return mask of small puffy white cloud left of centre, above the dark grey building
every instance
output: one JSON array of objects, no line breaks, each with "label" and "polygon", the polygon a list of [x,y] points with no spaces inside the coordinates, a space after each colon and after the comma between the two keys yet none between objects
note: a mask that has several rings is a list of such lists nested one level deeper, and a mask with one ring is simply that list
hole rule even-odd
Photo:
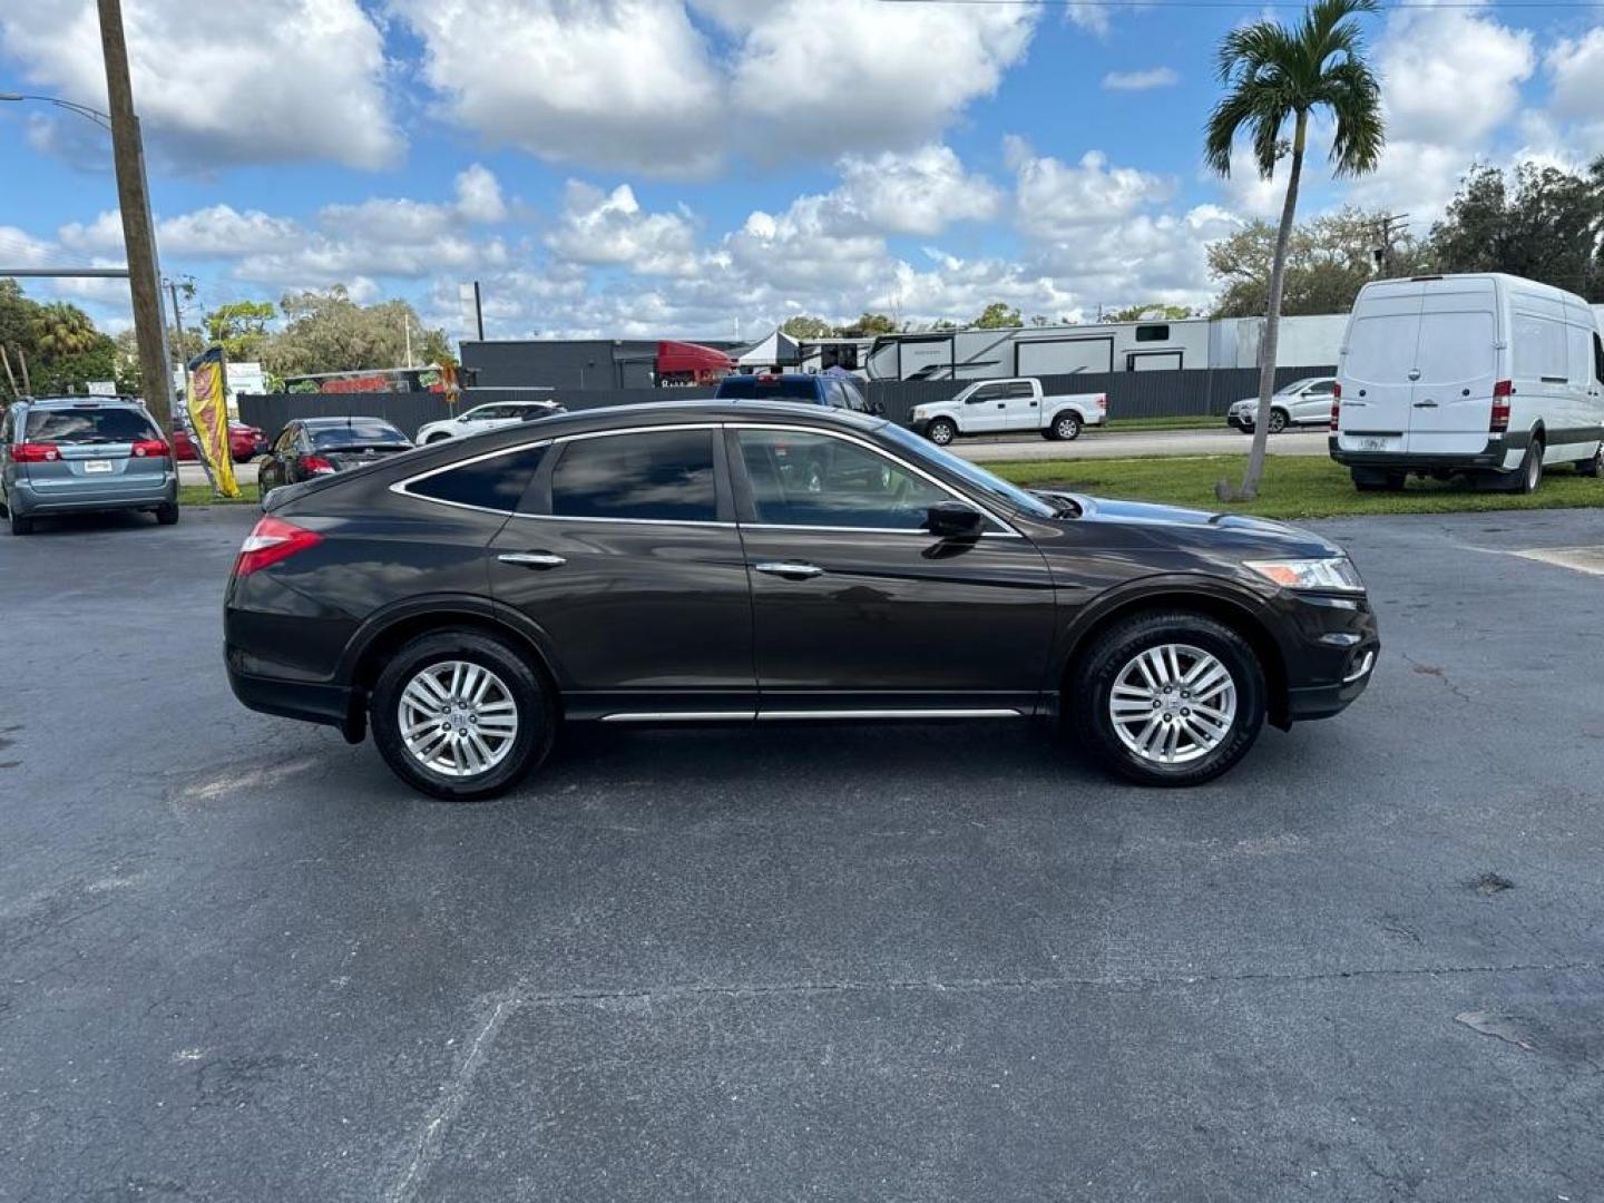
[{"label": "small puffy white cloud left of centre, above the dark grey building", "polygon": [[563,215],[545,245],[571,263],[621,263],[667,276],[696,269],[696,229],[688,213],[646,213],[629,184],[603,192],[569,180]]}]

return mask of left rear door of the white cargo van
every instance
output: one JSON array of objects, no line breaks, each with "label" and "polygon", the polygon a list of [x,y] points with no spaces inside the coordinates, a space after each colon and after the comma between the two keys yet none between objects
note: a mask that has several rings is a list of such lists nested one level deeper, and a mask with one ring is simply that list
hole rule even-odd
[{"label": "left rear door of the white cargo van", "polygon": [[1359,295],[1338,369],[1343,451],[1408,449],[1423,300],[1413,281],[1371,284]]}]

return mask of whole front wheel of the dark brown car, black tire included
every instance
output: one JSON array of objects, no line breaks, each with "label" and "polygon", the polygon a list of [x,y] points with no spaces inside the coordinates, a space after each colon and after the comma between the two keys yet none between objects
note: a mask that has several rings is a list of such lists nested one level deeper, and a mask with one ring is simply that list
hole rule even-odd
[{"label": "whole front wheel of the dark brown car, black tire included", "polygon": [[[1163,667],[1148,661],[1150,677],[1144,677],[1139,661],[1150,654],[1160,656]],[[1219,731],[1205,727],[1205,707],[1193,711],[1185,704],[1192,699],[1181,698],[1179,685],[1192,670],[1211,682],[1201,701],[1213,703],[1208,719],[1221,725]],[[1224,683],[1216,678],[1219,672]],[[1148,690],[1150,678],[1160,685],[1173,680],[1174,687],[1168,693]],[[1132,680],[1139,685],[1132,687]],[[1118,723],[1116,703],[1129,715]],[[1155,711],[1156,725],[1150,717]],[[1264,714],[1264,666],[1248,642],[1225,624],[1184,610],[1118,622],[1092,640],[1070,675],[1070,723],[1081,746],[1107,768],[1147,786],[1195,786],[1219,776],[1253,747]],[[1174,747],[1166,760],[1171,738]],[[1144,755],[1140,744],[1155,739],[1156,749]]]}]

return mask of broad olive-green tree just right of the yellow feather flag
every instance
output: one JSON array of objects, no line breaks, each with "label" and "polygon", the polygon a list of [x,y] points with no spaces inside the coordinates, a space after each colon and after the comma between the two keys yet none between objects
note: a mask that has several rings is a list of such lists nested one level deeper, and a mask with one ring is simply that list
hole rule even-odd
[{"label": "broad olive-green tree just right of the yellow feather flag", "polygon": [[322,292],[289,294],[279,302],[287,319],[261,350],[274,375],[356,372],[438,363],[449,354],[446,332],[425,327],[407,302],[358,305],[343,286]]}]

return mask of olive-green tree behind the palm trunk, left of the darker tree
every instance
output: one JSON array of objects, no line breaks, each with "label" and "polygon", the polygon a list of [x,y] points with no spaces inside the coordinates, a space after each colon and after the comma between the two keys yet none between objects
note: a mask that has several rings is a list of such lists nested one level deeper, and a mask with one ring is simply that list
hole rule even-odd
[{"label": "olive-green tree behind the palm trunk, left of the darker tree", "polygon": [[[1293,226],[1282,277],[1282,316],[1346,313],[1379,268],[1384,213],[1343,209]],[[1209,244],[1209,274],[1221,286],[1214,318],[1261,318],[1270,303],[1277,229],[1253,221]],[[1428,266],[1426,247],[1407,231],[1392,234],[1389,274],[1410,276]]]}]

